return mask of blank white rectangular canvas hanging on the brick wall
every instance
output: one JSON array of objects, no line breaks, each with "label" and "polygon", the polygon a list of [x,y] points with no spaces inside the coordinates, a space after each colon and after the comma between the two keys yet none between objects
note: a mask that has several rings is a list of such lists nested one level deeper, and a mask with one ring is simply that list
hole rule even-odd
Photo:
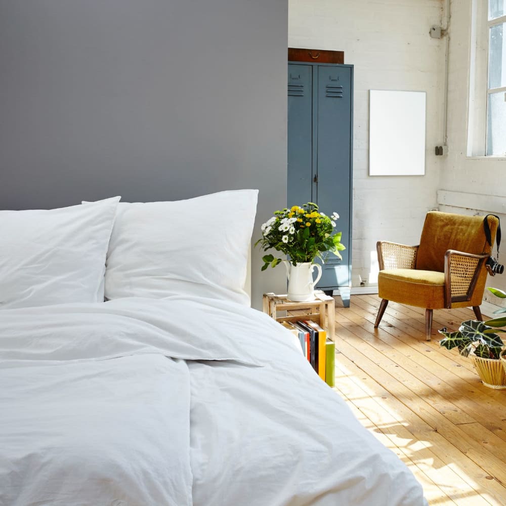
[{"label": "blank white rectangular canvas hanging on the brick wall", "polygon": [[369,91],[369,176],[425,175],[426,93]]}]

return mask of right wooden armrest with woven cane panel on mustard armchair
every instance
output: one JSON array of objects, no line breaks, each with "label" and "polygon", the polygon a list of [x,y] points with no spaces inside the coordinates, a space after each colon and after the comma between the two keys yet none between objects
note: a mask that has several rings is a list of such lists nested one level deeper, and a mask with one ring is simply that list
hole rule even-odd
[{"label": "right wooden armrest with woven cane panel on mustard armchair", "polygon": [[448,249],[445,253],[444,284],[445,307],[452,302],[469,301],[478,281],[478,276],[488,254],[474,255],[463,251]]}]

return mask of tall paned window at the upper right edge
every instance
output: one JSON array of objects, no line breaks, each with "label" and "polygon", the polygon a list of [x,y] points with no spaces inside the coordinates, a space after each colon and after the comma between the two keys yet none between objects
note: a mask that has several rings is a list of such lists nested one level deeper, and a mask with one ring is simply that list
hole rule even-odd
[{"label": "tall paned window at the upper right edge", "polygon": [[506,154],[506,0],[488,0],[486,155]]}]

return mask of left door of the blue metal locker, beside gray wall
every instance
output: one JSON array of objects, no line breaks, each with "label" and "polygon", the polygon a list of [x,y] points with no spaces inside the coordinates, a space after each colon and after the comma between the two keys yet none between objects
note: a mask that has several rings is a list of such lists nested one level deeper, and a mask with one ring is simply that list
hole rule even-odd
[{"label": "left door of the blue metal locker, beside gray wall", "polygon": [[310,202],[313,180],[313,66],[288,64],[287,205]]}]

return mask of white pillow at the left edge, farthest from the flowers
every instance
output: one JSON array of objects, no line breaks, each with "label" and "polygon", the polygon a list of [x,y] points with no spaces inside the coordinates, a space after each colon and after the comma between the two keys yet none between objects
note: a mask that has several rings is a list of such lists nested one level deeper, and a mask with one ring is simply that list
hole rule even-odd
[{"label": "white pillow at the left edge, farthest from the flowers", "polygon": [[107,247],[120,198],[59,209],[0,210],[0,309],[103,302]]}]

